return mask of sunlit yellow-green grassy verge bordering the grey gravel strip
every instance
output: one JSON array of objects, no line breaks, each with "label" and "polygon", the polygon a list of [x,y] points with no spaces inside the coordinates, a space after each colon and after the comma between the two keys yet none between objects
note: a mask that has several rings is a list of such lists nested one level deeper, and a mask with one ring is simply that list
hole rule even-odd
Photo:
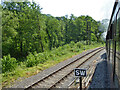
[{"label": "sunlit yellow-green grassy verge bordering the grey gravel strip", "polygon": [[81,47],[79,47],[79,44],[73,44],[71,46],[65,45],[65,46],[61,46],[60,48],[56,48],[56,49],[53,49],[52,51],[49,51],[47,53],[48,58],[46,61],[39,63],[37,65],[34,65],[32,67],[26,67],[26,62],[21,62],[21,64],[15,70],[11,72],[8,71],[5,73],[2,73],[2,87],[9,87],[16,80],[21,81],[24,78],[35,75],[42,70],[45,70],[68,58],[71,58],[77,54],[80,54],[81,52],[84,51],[84,48],[85,50],[88,50],[88,49],[93,49],[101,46],[104,46],[104,45],[96,44],[96,43],[92,45],[84,45],[84,46],[82,45]]}]

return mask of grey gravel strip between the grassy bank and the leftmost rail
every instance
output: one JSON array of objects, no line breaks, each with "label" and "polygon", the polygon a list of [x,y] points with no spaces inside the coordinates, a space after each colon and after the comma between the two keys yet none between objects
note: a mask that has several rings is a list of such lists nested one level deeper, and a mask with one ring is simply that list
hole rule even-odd
[{"label": "grey gravel strip between the grassy bank and the leftmost rail", "polygon": [[65,60],[64,62],[61,62],[51,68],[48,68],[44,71],[41,71],[40,73],[38,73],[37,75],[31,76],[29,78],[26,78],[25,80],[21,81],[21,82],[17,82],[16,84],[14,84],[11,88],[26,88],[28,86],[31,86],[32,84],[34,84],[35,82],[41,80],[42,78],[46,77],[47,75],[49,75],[50,73],[52,73],[53,71],[58,70],[60,67],[66,66],[68,63],[73,62],[74,60],[80,58],[81,56],[85,55],[88,52],[91,52],[92,50],[88,50],[85,51],[79,55],[76,55],[70,59]]}]

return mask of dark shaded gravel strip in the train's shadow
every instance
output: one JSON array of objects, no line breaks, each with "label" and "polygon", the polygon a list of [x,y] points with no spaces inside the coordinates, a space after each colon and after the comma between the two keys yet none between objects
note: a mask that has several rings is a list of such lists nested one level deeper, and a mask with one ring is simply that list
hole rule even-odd
[{"label": "dark shaded gravel strip in the train's shadow", "polygon": [[101,61],[96,66],[92,82],[88,89],[91,88],[114,88],[107,68],[106,53],[101,55]]}]

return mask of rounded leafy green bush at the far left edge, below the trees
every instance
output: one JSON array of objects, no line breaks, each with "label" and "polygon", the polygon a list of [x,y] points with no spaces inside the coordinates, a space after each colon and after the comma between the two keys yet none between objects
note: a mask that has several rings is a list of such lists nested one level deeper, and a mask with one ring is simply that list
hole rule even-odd
[{"label": "rounded leafy green bush at the far left edge, below the trees", "polygon": [[3,56],[2,59],[2,72],[5,73],[7,71],[15,70],[17,67],[17,61],[15,58],[11,58],[10,55]]}]

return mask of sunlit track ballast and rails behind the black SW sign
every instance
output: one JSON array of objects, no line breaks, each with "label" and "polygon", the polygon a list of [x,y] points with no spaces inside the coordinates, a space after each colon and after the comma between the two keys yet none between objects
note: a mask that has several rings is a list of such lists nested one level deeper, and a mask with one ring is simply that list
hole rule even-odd
[{"label": "sunlit track ballast and rails behind the black SW sign", "polygon": [[[101,55],[105,50],[100,51],[97,53],[94,57],[90,58],[87,62],[80,65],[78,68],[84,68],[87,71],[87,76],[83,77],[82,79],[82,88],[88,88],[90,85],[90,82],[92,80],[95,68],[97,63],[101,62]],[[74,77],[74,71],[70,73],[70,75],[67,75],[66,78],[61,80],[57,85],[55,85],[53,88],[79,88],[79,78]]]}]

